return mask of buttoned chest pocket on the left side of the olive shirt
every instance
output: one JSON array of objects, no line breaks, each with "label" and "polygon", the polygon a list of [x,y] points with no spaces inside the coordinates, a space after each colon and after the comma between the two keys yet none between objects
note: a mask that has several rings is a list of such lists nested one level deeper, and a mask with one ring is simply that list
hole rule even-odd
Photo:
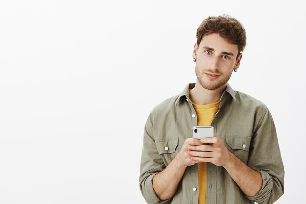
[{"label": "buttoned chest pocket on the left side of the olive shirt", "polygon": [[166,166],[172,161],[178,152],[178,137],[156,140],[158,154],[162,157]]}]

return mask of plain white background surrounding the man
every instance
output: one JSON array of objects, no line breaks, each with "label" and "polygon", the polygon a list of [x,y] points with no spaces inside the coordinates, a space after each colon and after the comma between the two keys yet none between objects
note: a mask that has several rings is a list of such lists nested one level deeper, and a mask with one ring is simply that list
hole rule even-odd
[{"label": "plain white background surrounding the man", "polygon": [[220,14],[247,32],[231,86],[276,124],[286,172],[276,203],[305,202],[298,1],[1,0],[0,204],[144,204],[144,123],[195,81],[197,27]]}]

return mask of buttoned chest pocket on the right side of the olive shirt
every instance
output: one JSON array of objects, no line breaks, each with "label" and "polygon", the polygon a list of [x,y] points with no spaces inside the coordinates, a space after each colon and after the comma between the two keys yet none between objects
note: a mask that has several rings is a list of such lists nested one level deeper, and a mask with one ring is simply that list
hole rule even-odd
[{"label": "buttoned chest pocket on the right side of the olive shirt", "polygon": [[252,137],[249,136],[237,136],[227,135],[226,143],[230,147],[228,148],[236,157],[238,157],[244,163],[247,163],[249,159],[249,151]]}]

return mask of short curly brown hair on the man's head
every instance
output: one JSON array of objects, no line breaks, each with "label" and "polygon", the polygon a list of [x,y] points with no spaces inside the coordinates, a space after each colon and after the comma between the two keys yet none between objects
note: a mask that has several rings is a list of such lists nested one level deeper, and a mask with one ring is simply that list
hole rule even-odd
[{"label": "short curly brown hair on the man's head", "polygon": [[246,34],[242,24],[228,15],[209,16],[197,28],[197,45],[202,38],[211,33],[217,33],[229,43],[238,45],[238,55],[246,45]]}]

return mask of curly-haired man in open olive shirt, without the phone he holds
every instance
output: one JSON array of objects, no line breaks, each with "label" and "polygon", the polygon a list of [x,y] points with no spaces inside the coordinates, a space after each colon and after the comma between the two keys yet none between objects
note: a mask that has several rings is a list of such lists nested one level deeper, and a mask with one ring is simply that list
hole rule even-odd
[{"label": "curly-haired man in open olive shirt, without the phone he holds", "polygon": [[[268,108],[227,83],[245,45],[243,26],[229,16],[197,29],[196,83],[157,105],[145,124],[139,183],[149,204],[270,204],[284,193]],[[215,136],[192,138],[196,125],[213,126]]]}]

